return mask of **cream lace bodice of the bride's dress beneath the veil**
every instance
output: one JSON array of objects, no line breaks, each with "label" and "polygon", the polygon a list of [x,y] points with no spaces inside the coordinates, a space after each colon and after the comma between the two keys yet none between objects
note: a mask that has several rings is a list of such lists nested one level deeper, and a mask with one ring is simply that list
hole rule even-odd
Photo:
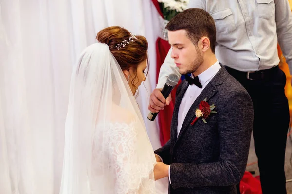
[{"label": "cream lace bodice of the bride's dress beneath the veil", "polygon": [[[154,153],[152,147],[137,141],[137,127],[137,122],[109,123],[103,127],[102,136],[100,132],[95,134],[92,178],[97,178],[98,183],[91,182],[91,190],[102,188],[104,194],[155,193]],[[108,147],[101,147],[105,145],[101,144],[102,139],[108,142]]]}]

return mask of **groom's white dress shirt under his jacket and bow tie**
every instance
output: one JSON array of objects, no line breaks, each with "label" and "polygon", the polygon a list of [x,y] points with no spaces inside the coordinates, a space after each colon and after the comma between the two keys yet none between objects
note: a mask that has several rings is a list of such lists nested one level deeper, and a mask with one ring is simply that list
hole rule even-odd
[{"label": "groom's white dress shirt under his jacket and bow tie", "polygon": [[[186,92],[183,95],[182,102],[180,104],[179,113],[178,113],[178,135],[182,129],[183,121],[185,119],[185,116],[189,109],[191,108],[192,104],[195,102],[197,97],[201,94],[203,89],[208,85],[208,83],[214,78],[214,76],[217,74],[217,72],[220,70],[221,66],[218,61],[215,62],[211,67],[209,67],[207,70],[202,72],[199,77],[199,81],[202,84],[202,88],[199,88],[196,85],[189,85]],[[160,157],[162,160],[162,158]],[[168,169],[168,178],[169,182],[171,184],[170,180],[170,166]]]}]

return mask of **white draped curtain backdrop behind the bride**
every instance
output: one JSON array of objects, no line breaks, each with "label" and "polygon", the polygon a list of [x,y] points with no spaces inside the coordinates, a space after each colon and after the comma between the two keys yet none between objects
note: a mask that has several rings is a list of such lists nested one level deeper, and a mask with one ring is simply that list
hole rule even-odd
[{"label": "white draped curtain backdrop behind the bride", "polygon": [[[146,36],[150,69],[137,98],[148,121],[159,15],[151,0],[0,0],[0,194],[58,194],[72,65],[107,26]],[[167,193],[167,178],[157,182]]]}]

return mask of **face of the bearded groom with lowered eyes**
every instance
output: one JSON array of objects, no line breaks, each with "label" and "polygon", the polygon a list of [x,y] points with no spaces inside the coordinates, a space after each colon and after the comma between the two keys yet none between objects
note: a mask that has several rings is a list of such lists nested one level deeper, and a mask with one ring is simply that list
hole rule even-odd
[{"label": "face of the bearded groom with lowered eyes", "polygon": [[204,62],[198,45],[194,45],[185,30],[168,31],[168,40],[172,46],[171,58],[181,74],[195,72]]}]

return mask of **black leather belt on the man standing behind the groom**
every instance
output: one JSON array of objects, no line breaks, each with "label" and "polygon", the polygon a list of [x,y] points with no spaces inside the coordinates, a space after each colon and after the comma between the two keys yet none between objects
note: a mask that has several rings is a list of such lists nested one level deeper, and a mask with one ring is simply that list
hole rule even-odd
[{"label": "black leather belt on the man standing behind the groom", "polygon": [[259,70],[259,71],[238,71],[228,66],[225,66],[226,70],[230,72],[230,74],[235,74],[241,77],[246,77],[248,80],[268,80],[273,77],[275,73],[279,70],[279,66],[275,66],[271,69]]}]

